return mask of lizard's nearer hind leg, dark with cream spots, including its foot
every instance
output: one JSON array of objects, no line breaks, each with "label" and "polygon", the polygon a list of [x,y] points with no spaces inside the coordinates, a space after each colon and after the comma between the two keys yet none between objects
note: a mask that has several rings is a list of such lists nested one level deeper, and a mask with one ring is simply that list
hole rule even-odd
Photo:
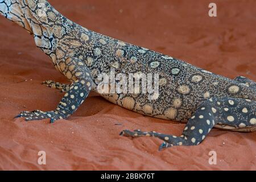
[{"label": "lizard's nearer hind leg, dark with cream spots, including its foot", "polygon": [[159,150],[172,146],[194,146],[200,144],[216,124],[232,126],[235,129],[256,126],[255,114],[255,101],[230,97],[209,98],[197,108],[179,137],[140,130],[123,130],[121,135],[126,137],[158,137],[164,140]]}]

